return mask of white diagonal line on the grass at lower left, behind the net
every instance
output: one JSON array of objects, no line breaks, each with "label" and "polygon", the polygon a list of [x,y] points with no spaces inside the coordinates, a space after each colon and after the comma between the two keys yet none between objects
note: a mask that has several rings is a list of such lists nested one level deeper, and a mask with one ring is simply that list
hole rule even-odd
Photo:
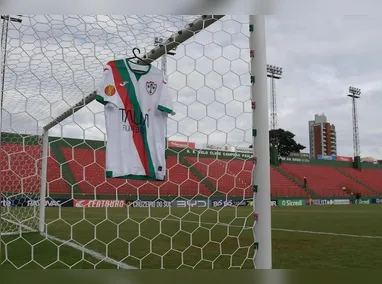
[{"label": "white diagonal line on the grass at lower left, behind the net", "polygon": [[[5,220],[6,222],[9,222],[9,223],[11,223],[11,224],[14,224],[14,225],[16,225],[16,226],[19,226],[20,228],[24,228],[24,229],[28,230],[30,233],[32,233],[32,232],[38,232],[38,231],[34,230],[33,228],[31,228],[31,227],[29,227],[29,226],[26,226],[26,225],[24,225],[24,224],[21,224],[21,223],[18,223],[18,222],[9,220],[9,219],[5,219],[5,218],[3,218],[3,220]],[[28,232],[25,232],[25,233],[28,233]],[[84,252],[84,253],[86,253],[86,254],[88,254],[88,255],[94,257],[94,258],[97,259],[97,260],[101,260],[101,261],[105,261],[105,262],[107,262],[107,263],[109,263],[109,264],[113,264],[113,265],[117,266],[117,268],[121,268],[121,269],[137,269],[137,268],[134,267],[134,266],[127,265],[126,263],[123,263],[123,262],[117,261],[117,260],[115,260],[115,259],[112,259],[112,258],[110,258],[110,257],[108,257],[108,256],[105,256],[105,255],[103,255],[103,254],[101,254],[101,253],[98,253],[98,252],[96,252],[96,251],[94,251],[94,250],[85,248],[85,247],[83,247],[83,246],[81,246],[81,245],[77,245],[77,244],[75,244],[74,242],[71,242],[70,240],[66,240],[66,241],[65,241],[65,240],[59,239],[59,238],[57,238],[57,237],[54,237],[54,236],[52,236],[52,235],[49,235],[49,234],[47,234],[47,233],[40,233],[40,234],[41,234],[43,237],[46,237],[47,239],[51,239],[51,240],[56,241],[56,242],[59,242],[59,243],[61,243],[61,244],[63,244],[63,245],[66,245],[66,246],[69,246],[69,247],[71,247],[71,248],[74,248],[74,249],[77,249],[77,250],[79,250],[79,251],[82,251],[82,252]]]}]

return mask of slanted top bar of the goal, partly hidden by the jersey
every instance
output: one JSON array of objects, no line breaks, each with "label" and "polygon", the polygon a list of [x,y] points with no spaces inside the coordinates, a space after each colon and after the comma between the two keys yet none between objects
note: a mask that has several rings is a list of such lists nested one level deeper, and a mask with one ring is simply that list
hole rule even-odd
[{"label": "slanted top bar of the goal, partly hidden by the jersey", "polygon": [[[163,45],[156,46],[151,51],[146,53],[142,58],[145,59],[145,61],[153,62],[157,60],[159,57],[161,57],[163,54],[166,53],[166,51],[170,51],[174,48],[176,48],[179,44],[185,42],[189,38],[193,37],[195,34],[199,33],[200,31],[204,30],[205,28],[209,27],[219,19],[223,18],[224,15],[203,15],[200,18],[196,19],[192,23],[188,24],[183,30],[180,30],[176,33],[174,33],[171,37],[169,37],[166,41],[163,42]],[[79,101],[77,104],[75,104],[70,109],[63,112],[61,115],[56,117],[54,120],[52,120],[50,123],[44,126],[45,130],[49,130],[52,127],[56,126],[69,116],[73,115],[83,107],[85,107],[87,104],[95,100],[96,97],[96,91],[92,92],[91,94],[87,95],[85,98],[83,98],[81,101]]]}]

